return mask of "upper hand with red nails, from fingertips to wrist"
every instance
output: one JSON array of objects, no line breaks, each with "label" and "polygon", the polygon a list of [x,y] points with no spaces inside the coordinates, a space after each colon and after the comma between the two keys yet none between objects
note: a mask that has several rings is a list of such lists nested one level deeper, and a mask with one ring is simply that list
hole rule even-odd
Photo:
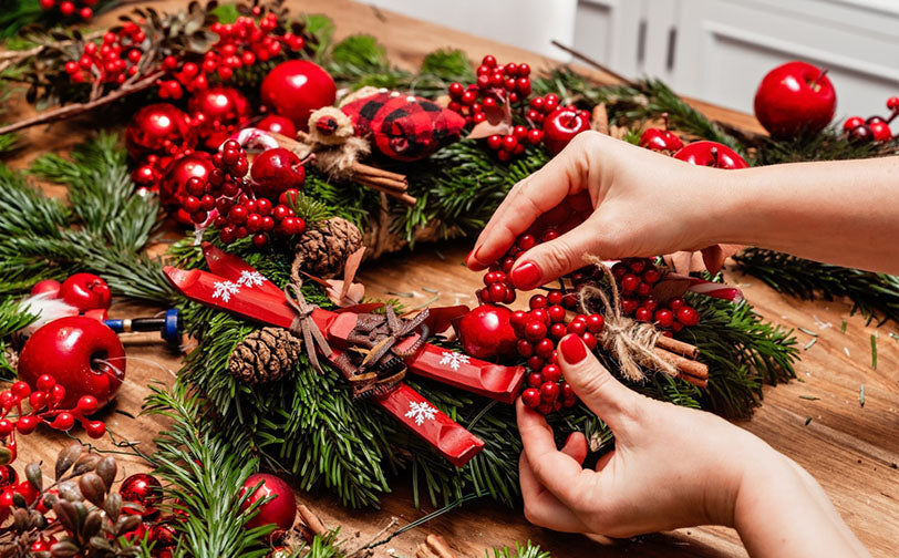
[{"label": "upper hand with red nails, from fingertips to wrist", "polygon": [[513,187],[467,265],[486,268],[536,221],[566,207],[574,209],[569,227],[577,226],[516,261],[510,278],[517,288],[529,290],[583,267],[585,254],[612,259],[706,248],[717,241],[715,208],[724,206],[714,184],[720,173],[596,132],[578,134]]}]

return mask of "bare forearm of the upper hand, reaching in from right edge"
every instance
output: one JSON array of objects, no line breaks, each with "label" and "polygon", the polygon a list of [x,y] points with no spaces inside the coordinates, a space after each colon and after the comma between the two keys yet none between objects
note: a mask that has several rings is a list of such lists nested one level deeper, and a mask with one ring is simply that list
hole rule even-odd
[{"label": "bare forearm of the upper hand, reaching in from right edge", "polygon": [[711,242],[744,244],[899,272],[899,157],[797,163],[707,175]]}]

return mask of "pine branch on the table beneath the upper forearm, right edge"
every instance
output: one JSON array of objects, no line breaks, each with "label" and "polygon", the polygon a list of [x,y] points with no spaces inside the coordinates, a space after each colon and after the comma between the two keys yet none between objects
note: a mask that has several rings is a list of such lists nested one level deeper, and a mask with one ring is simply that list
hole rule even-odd
[{"label": "pine branch on the table beneath the upper forearm, right edge", "polygon": [[777,292],[805,300],[852,302],[850,313],[871,321],[899,322],[899,277],[820,264],[786,254],[747,248],[734,257],[740,271],[756,277]]}]

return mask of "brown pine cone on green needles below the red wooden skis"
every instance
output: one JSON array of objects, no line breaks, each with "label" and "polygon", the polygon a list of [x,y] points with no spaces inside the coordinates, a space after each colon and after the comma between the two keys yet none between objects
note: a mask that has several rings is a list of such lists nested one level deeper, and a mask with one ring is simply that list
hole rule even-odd
[{"label": "brown pine cone on green needles below the red wooden skis", "polygon": [[244,383],[273,382],[289,374],[302,353],[302,341],[282,328],[256,330],[237,343],[228,370]]}]

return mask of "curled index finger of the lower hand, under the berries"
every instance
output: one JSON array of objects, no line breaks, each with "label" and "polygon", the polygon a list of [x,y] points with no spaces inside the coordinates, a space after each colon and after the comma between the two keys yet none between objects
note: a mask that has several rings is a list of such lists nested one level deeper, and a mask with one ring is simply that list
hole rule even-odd
[{"label": "curled index finger of the lower hand, under the berries", "polygon": [[516,407],[518,432],[530,471],[537,482],[562,504],[589,492],[593,486],[596,473],[585,469],[571,455],[556,448],[552,430],[542,416],[527,409],[520,399]]}]

